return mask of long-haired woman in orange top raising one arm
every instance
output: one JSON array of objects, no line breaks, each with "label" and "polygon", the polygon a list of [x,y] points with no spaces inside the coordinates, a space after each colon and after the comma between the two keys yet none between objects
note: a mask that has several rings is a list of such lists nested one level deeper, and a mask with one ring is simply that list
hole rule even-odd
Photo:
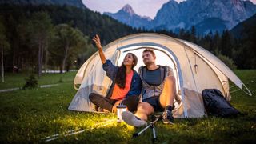
[{"label": "long-haired woman in orange top raising one arm", "polygon": [[112,85],[106,97],[91,93],[89,95],[90,101],[94,105],[113,113],[116,112],[116,106],[121,102],[127,106],[128,110],[135,111],[139,100],[138,95],[141,94],[142,90],[141,78],[134,70],[138,58],[134,54],[128,53],[122,62],[122,66],[114,66],[110,60],[106,60],[98,35],[93,38],[93,41],[98,48],[103,70],[106,71],[106,75],[112,80]]}]

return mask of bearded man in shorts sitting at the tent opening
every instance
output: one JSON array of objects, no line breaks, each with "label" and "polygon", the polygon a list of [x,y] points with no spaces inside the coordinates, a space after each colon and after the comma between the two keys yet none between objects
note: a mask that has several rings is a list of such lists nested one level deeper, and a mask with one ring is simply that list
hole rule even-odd
[{"label": "bearded man in shorts sitting at the tent opening", "polygon": [[176,95],[175,78],[169,66],[155,64],[156,56],[153,50],[146,49],[142,54],[146,66],[139,68],[142,78],[142,102],[138,104],[135,114],[130,111],[122,113],[123,120],[135,127],[146,126],[146,120],[154,111],[164,111],[162,121],[173,124],[172,108]]}]

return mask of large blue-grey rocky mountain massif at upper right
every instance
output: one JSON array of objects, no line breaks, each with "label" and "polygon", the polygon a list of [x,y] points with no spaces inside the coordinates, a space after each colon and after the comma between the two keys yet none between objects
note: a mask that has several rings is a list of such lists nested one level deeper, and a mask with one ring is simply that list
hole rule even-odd
[{"label": "large blue-grey rocky mountain massif at upper right", "polygon": [[221,31],[237,25],[256,13],[256,5],[241,0],[170,0],[158,10],[150,29],[190,29],[196,26],[200,34]]}]

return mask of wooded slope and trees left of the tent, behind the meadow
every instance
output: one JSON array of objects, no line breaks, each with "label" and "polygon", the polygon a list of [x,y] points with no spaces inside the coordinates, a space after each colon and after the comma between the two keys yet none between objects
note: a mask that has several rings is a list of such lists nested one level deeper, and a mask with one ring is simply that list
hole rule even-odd
[{"label": "wooded slope and trees left of the tent, behind the meadow", "polygon": [[[136,30],[90,10],[74,6],[0,5],[2,70],[38,72],[70,70],[82,65],[102,44]],[[2,36],[4,36],[2,38]]]}]

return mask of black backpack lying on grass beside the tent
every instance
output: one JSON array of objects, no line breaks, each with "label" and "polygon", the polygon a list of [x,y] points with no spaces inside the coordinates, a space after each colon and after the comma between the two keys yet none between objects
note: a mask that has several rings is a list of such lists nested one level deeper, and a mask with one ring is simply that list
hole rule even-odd
[{"label": "black backpack lying on grass beside the tent", "polygon": [[219,117],[230,117],[240,114],[230,102],[227,102],[217,89],[202,90],[202,98],[208,114]]}]

